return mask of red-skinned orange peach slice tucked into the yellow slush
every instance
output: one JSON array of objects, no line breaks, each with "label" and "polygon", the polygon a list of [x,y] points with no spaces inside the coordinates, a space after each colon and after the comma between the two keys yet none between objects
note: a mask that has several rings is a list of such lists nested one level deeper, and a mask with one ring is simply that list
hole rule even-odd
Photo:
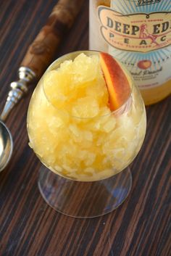
[{"label": "red-skinned orange peach slice tucked into the yellow slush", "polygon": [[109,54],[100,54],[101,70],[109,91],[109,107],[117,110],[130,96],[130,83],[120,64]]}]

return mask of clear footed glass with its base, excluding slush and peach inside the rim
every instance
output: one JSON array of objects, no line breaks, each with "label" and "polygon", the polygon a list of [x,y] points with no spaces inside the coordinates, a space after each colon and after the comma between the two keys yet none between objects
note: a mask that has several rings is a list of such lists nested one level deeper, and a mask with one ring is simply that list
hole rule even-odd
[{"label": "clear footed glass with its base, excluding slush and peach inside the rim", "polygon": [[131,92],[119,109],[78,117],[57,107],[46,79],[51,70],[79,54],[75,51],[54,61],[38,82],[28,109],[28,136],[43,163],[38,178],[43,199],[64,215],[93,218],[112,212],[128,197],[132,184],[128,165],[143,144],[146,110],[123,66]]}]

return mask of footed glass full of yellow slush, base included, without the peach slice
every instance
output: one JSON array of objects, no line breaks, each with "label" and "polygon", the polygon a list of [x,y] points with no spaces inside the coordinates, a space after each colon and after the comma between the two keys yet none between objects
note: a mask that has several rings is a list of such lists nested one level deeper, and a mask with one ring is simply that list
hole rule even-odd
[{"label": "footed glass full of yellow slush, base included, without the peach slice", "polygon": [[103,105],[108,93],[103,75],[96,78],[101,72],[98,51],[75,51],[54,61],[30,99],[29,145],[43,163],[38,187],[43,199],[64,215],[104,215],[130,192],[128,165],[143,144],[146,110],[121,67],[130,94],[117,110]]}]

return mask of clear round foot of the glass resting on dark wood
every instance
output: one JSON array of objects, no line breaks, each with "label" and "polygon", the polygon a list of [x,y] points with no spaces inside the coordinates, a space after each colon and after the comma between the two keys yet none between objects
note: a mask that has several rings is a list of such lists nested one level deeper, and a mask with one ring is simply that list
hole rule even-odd
[{"label": "clear round foot of the glass resting on dark wood", "polygon": [[132,185],[130,169],[111,178],[82,182],[62,178],[42,165],[38,188],[48,205],[75,218],[94,218],[119,207]]}]

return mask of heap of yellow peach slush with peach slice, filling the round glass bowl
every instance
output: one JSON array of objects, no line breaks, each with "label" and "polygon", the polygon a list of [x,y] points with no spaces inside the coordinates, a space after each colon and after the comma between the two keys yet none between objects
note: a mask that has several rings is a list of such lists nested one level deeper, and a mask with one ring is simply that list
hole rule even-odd
[{"label": "heap of yellow peach slush with peach slice, filling the round glass bowl", "polygon": [[138,154],[145,131],[138,88],[109,54],[85,51],[57,59],[30,100],[30,147],[66,178],[97,181],[119,173]]}]

